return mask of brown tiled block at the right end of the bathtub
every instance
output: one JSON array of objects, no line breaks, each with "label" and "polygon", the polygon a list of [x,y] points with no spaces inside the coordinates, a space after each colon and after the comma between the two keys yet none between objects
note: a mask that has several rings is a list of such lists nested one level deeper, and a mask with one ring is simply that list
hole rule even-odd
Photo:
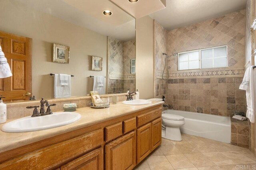
[{"label": "brown tiled block at the right end of the bathtub", "polygon": [[250,147],[249,121],[236,120],[231,117],[231,144],[239,147]]}]

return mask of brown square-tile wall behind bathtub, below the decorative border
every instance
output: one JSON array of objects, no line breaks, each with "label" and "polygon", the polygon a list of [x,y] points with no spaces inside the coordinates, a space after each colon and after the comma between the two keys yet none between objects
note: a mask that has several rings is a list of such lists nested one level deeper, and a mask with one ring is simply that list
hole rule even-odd
[{"label": "brown square-tile wall behind bathtub, below the decorative border", "polygon": [[229,116],[244,111],[242,78],[182,78],[168,80],[170,109]]}]

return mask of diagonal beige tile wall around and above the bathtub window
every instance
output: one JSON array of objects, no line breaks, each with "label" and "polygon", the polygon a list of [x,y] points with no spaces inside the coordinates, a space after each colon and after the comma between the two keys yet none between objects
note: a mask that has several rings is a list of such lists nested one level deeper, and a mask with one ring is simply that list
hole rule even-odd
[{"label": "diagonal beige tile wall around and above the bathtub window", "polygon": [[[245,10],[168,31],[168,54],[220,45],[228,45],[229,67],[244,66]],[[177,57],[168,65],[177,71]]]}]

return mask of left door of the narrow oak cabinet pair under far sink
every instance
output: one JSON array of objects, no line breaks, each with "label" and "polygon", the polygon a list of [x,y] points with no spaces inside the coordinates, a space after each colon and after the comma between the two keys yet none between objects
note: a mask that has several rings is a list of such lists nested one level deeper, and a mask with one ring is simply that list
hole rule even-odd
[{"label": "left door of the narrow oak cabinet pair under far sink", "polygon": [[151,122],[137,129],[137,164],[151,152]]}]

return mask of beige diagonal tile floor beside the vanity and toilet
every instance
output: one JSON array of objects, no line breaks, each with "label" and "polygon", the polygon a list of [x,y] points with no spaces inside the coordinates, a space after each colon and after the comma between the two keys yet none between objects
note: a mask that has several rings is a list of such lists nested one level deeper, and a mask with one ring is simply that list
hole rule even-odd
[{"label": "beige diagonal tile floor beside the vanity and toilet", "polygon": [[135,170],[255,170],[249,149],[182,134],[182,141],[162,138],[162,144]]}]

